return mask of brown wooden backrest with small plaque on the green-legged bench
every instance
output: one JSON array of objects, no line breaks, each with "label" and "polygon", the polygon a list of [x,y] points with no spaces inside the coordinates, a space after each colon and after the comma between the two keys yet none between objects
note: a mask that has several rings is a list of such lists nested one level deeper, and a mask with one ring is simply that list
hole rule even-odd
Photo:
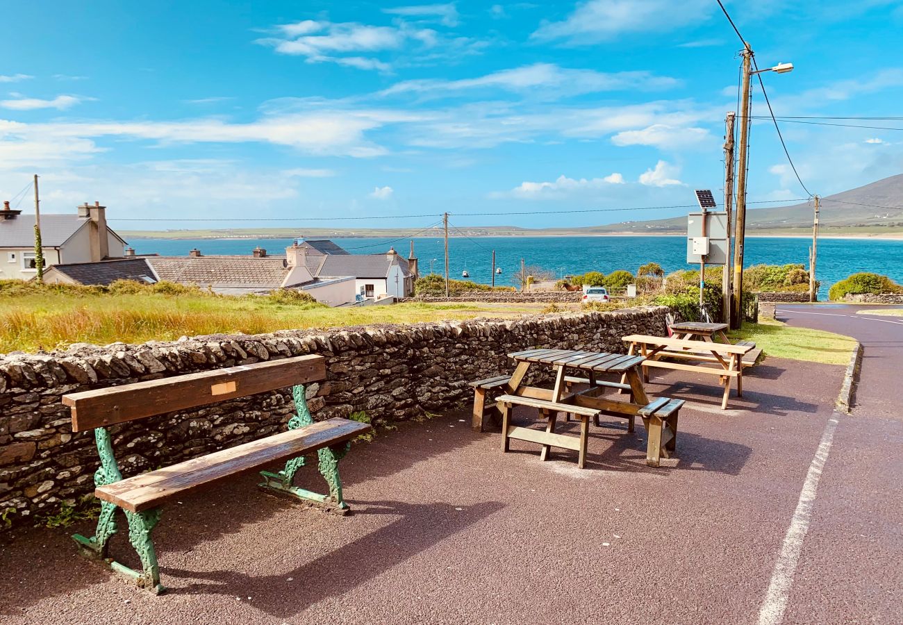
[{"label": "brown wooden backrest with small plaque on the green-legged bench", "polygon": [[324,378],[326,360],[312,354],[70,393],[62,403],[72,408],[72,431],[80,432]]}]

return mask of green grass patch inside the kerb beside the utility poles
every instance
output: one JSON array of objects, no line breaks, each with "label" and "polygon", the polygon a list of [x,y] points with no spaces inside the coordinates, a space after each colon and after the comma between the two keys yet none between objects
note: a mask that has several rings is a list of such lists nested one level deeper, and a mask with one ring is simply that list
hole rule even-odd
[{"label": "green grass patch inside the kerb beside the utility poles", "polygon": [[744,323],[743,329],[728,332],[731,340],[752,340],[762,352],[775,358],[822,362],[827,365],[850,363],[856,340],[824,330],[796,328],[782,322]]}]

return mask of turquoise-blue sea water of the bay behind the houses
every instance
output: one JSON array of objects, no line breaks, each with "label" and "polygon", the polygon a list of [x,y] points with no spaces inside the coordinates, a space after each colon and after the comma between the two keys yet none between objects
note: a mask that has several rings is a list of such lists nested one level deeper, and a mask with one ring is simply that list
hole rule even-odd
[{"label": "turquoise-blue sea water of the bay behind the houses", "polygon": [[[408,256],[409,241],[420,259],[421,274],[444,271],[442,238],[333,238],[352,254],[377,254],[395,247]],[[138,254],[185,256],[192,247],[204,255],[251,255],[255,247],[269,254],[282,255],[292,244],[290,238],[202,238],[202,239],[129,239]],[[745,266],[799,263],[808,268],[811,238],[750,237],[746,242]],[[521,259],[526,266],[539,266],[556,276],[616,269],[636,273],[637,268],[654,262],[666,272],[697,268],[686,263],[686,239],[683,237],[454,237],[449,239],[449,275],[461,279],[467,271],[470,280],[489,284],[492,280],[492,251],[496,252],[497,285],[513,285]],[[820,238],[816,277],[822,283],[821,296],[847,275],[861,271],[889,275],[903,283],[903,240],[879,238]]]}]

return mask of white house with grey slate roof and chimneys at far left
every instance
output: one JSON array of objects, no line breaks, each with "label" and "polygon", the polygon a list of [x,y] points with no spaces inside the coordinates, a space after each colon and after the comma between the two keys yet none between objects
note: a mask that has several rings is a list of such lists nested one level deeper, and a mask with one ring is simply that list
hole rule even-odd
[{"label": "white house with grey slate roof and chimneys at far left", "polygon": [[[106,207],[79,206],[77,214],[43,214],[41,248],[44,266],[98,262],[125,256],[126,241],[107,228]],[[0,210],[0,280],[31,280],[34,267],[34,215]]]}]

